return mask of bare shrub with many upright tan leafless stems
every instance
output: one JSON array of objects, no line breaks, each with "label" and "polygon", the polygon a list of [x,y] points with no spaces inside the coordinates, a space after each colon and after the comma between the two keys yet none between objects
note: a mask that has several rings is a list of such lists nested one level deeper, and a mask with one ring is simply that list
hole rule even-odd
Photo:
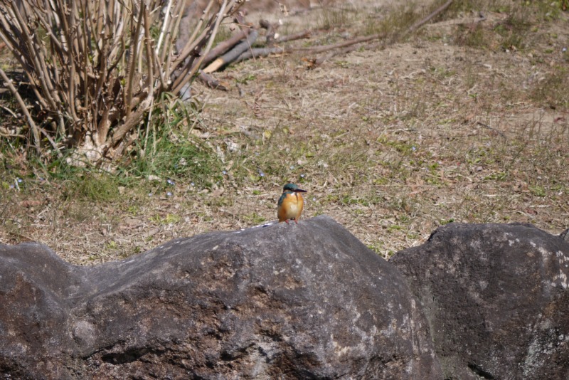
[{"label": "bare shrub with many upright tan leafless stems", "polygon": [[73,147],[90,162],[120,157],[144,133],[137,126],[154,100],[192,80],[220,22],[241,3],[208,1],[176,51],[186,0],[0,0],[0,38],[31,96],[0,75],[36,152],[61,156]]}]

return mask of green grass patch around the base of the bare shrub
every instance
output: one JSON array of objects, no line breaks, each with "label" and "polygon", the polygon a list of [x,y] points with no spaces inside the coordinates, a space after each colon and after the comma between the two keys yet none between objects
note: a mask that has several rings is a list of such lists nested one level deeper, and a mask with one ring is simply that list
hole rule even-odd
[{"label": "green grass patch around the base of the bare shrub", "polygon": [[[152,122],[141,126],[137,145],[113,167],[105,164],[73,166],[69,158],[78,161],[73,152],[63,157],[36,157],[26,153],[19,139],[0,141],[0,158],[4,164],[1,186],[14,187],[16,178],[23,179],[19,190],[28,183],[57,183],[61,198],[92,202],[113,202],[122,199],[122,191],[131,193],[164,190],[184,181],[195,189],[211,189],[222,177],[221,162],[213,147],[191,134],[198,105],[195,102],[164,102],[156,107]],[[167,105],[166,105],[167,104]],[[147,127],[147,128],[145,128]],[[145,130],[146,129],[146,130]],[[28,152],[31,149],[28,149]],[[79,158],[80,159],[80,158]],[[159,181],[148,181],[149,178]]]}]

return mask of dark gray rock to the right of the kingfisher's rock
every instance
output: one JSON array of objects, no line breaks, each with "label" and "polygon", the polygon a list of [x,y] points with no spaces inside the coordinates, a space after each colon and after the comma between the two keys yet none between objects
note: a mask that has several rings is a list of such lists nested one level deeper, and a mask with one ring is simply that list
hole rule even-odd
[{"label": "dark gray rock to the right of the kingfisher's rock", "polygon": [[390,263],[446,379],[569,379],[569,243],[529,225],[448,224]]}]

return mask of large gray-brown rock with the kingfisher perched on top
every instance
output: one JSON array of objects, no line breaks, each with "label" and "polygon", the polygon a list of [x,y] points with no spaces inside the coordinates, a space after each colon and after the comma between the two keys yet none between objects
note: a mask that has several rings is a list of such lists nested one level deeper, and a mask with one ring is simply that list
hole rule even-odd
[{"label": "large gray-brown rock with the kingfisher perched on top", "polygon": [[398,270],[325,216],[90,268],[0,246],[0,305],[12,378],[442,378]]}]

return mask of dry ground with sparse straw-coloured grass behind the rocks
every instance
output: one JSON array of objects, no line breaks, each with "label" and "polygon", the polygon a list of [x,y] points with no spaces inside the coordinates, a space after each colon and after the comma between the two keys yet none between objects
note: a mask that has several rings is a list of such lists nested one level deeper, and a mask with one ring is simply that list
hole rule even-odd
[{"label": "dry ground with sparse straw-coloured grass behind the rocks", "polygon": [[[535,21],[520,48],[504,45],[511,12],[491,4],[457,7],[402,41],[315,68],[299,52],[215,73],[230,90],[197,85],[205,108],[192,131],[222,162],[212,189],[185,179],[170,194],[120,189],[119,199],[97,203],[24,179],[21,191],[4,193],[0,242],[40,241],[72,263],[101,263],[272,221],[287,181],[308,191],[303,218],[327,214],[385,258],[450,221],[533,223],[558,234],[569,227],[569,115],[555,75],[569,65],[569,15]],[[318,31],[295,42],[318,45],[359,36],[396,7],[353,0],[248,18],[281,19],[282,33]]]}]

